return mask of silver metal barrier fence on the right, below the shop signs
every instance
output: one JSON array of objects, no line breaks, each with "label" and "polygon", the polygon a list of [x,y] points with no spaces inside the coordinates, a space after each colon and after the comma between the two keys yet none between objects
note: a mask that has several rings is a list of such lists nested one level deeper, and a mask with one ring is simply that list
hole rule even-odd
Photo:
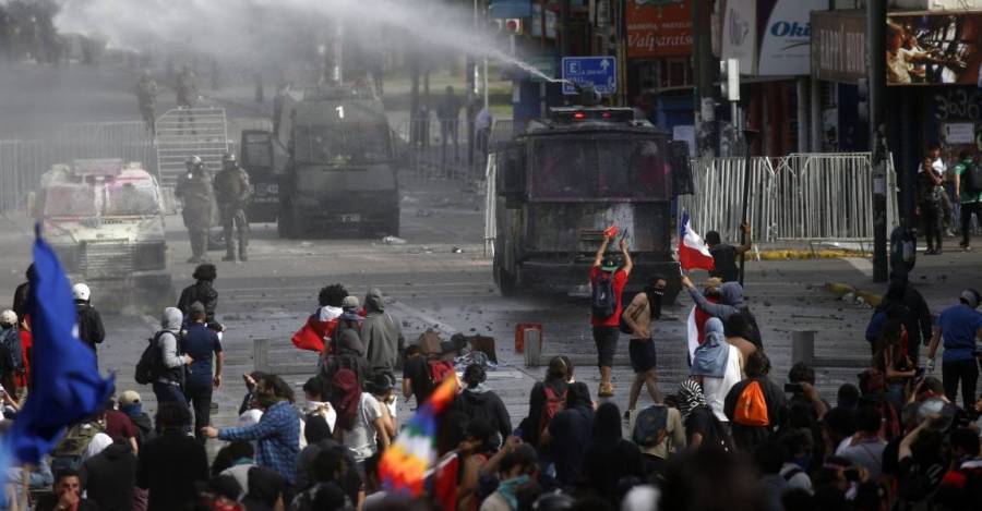
[{"label": "silver metal barrier fence on the right, below the shop signs", "polygon": [[[739,238],[744,158],[693,159],[694,195],[681,197],[693,228]],[[747,216],[758,241],[873,239],[873,168],[869,153],[751,158]],[[887,224],[897,224],[897,178],[888,160]]]}]

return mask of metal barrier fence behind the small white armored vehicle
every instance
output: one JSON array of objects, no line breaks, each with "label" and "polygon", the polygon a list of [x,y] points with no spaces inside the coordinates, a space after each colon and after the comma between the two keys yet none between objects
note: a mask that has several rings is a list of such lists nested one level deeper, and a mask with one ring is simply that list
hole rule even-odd
[{"label": "metal barrier fence behind the small white armored vehicle", "polygon": [[44,139],[0,141],[0,211],[24,207],[52,165],[82,158],[121,158],[156,171],[153,138],[140,121],[65,124]]}]

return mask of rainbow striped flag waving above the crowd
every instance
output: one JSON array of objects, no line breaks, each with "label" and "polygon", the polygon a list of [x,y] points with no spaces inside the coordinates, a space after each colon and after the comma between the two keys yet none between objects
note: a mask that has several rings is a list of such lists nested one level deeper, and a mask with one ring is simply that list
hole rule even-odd
[{"label": "rainbow striped flag waving above the crowd", "polygon": [[423,492],[436,462],[436,419],[456,393],[457,378],[445,378],[382,453],[379,476],[386,491],[409,497]]}]

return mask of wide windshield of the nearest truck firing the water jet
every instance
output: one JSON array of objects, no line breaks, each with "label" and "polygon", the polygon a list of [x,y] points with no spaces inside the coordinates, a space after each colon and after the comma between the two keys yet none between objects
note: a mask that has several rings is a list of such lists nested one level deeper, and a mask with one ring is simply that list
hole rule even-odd
[{"label": "wide windshield of the nearest truck firing the water jet", "polygon": [[658,143],[599,136],[537,141],[531,166],[536,198],[668,198],[671,181]]}]

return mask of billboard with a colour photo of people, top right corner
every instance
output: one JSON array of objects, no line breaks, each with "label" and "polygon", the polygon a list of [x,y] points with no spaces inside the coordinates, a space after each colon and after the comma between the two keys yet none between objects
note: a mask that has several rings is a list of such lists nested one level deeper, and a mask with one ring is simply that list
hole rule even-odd
[{"label": "billboard with a colour photo of people, top right corner", "polygon": [[889,14],[887,85],[978,85],[982,13]]}]

